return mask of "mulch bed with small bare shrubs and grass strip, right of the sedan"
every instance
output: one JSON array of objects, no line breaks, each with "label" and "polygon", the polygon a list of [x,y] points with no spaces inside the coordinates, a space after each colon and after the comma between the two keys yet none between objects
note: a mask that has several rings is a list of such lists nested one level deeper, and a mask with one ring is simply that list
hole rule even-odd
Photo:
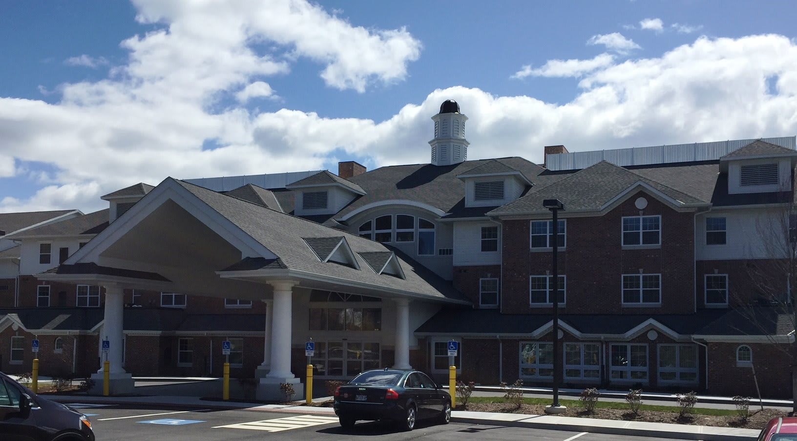
[{"label": "mulch bed with small bare shrubs and grass strip, right of the sedan", "polygon": [[[532,415],[544,415],[544,406],[538,404],[522,404],[516,408],[513,404],[506,403],[470,403],[468,407],[457,406],[456,410],[468,410],[473,412],[503,412],[503,413],[525,413]],[[742,421],[738,416],[711,416],[711,415],[687,415],[680,418],[675,412],[640,411],[637,416],[625,409],[598,408],[595,412],[588,414],[583,408],[567,408],[567,412],[560,416],[575,416],[579,418],[599,418],[603,420],[626,420],[644,421],[647,423],[675,423],[693,424],[699,426],[715,427],[739,427],[745,429],[760,430],[765,427],[769,420],[777,416],[787,416],[787,412],[775,409],[764,409],[750,411],[750,417]]]}]

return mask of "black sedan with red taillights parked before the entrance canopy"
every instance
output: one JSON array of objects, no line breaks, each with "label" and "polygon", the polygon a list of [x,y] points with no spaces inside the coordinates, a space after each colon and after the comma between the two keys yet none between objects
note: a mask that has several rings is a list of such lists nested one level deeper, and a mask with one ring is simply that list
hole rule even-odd
[{"label": "black sedan with red taillights parked before the entrance canopy", "polygon": [[387,420],[411,431],[417,420],[434,418],[448,423],[451,396],[425,373],[375,369],[336,390],[335,414],[345,428],[354,427],[358,420]]}]

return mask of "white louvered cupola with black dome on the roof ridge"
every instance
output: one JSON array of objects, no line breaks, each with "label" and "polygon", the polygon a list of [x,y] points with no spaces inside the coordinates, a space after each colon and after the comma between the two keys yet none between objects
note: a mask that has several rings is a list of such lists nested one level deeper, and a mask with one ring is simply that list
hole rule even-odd
[{"label": "white louvered cupola with black dome on the roof ridge", "polygon": [[446,100],[440,105],[440,113],[432,117],[434,121],[434,139],[432,146],[432,164],[450,166],[468,159],[469,142],[465,139],[465,121],[468,117],[459,112],[459,104],[454,100]]}]

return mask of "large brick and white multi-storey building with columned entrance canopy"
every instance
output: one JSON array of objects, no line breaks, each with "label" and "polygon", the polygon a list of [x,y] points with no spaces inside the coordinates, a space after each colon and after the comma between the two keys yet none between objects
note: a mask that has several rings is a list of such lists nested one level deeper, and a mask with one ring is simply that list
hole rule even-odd
[{"label": "large brick and white multi-storey building with columned entrance canopy", "polygon": [[[566,384],[752,395],[755,364],[765,396],[788,394],[793,326],[771,294],[791,276],[764,244],[789,230],[763,225],[793,205],[794,137],[548,146],[538,166],[468,161],[453,101],[432,119],[426,164],[341,162],[277,189],[167,178],[8,234],[20,295],[0,310],[0,369],[26,370],[37,335],[42,366],[96,372],[108,339],[126,392],[132,375],[218,376],[230,340],[234,377],[269,398],[300,388],[310,339],[329,379],[410,365],[442,378],[455,339],[465,380],[550,384],[557,240]],[[556,231],[550,197],[565,205]]]}]

